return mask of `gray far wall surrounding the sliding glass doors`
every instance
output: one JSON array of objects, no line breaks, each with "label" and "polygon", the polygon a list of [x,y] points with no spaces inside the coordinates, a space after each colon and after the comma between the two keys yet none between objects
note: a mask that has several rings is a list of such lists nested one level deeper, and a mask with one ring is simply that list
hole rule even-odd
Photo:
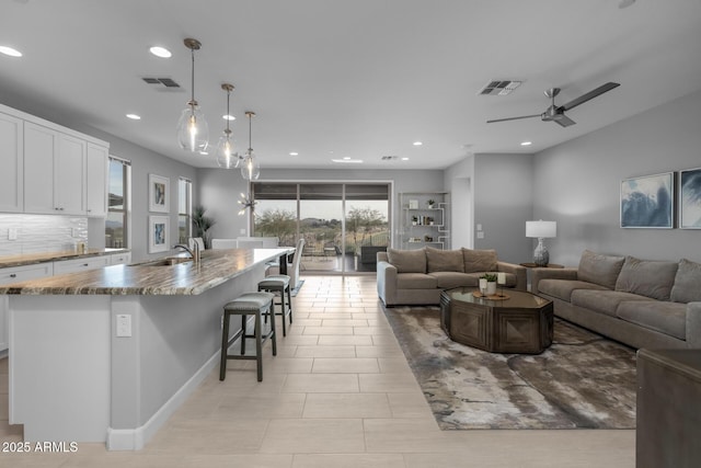
[{"label": "gray far wall surrounding the sliding glass doors", "polygon": [[[402,192],[443,192],[444,171],[409,171],[409,170],[348,170],[348,169],[266,169],[264,157],[261,160],[261,181],[382,181],[393,182],[393,198]],[[248,193],[248,183],[241,179],[238,170],[225,171],[221,169],[198,170],[199,201],[207,209],[207,215],[212,216],[217,224],[211,229],[214,238],[234,238],[250,232],[249,217],[239,216],[237,201],[241,192]],[[394,206],[395,204],[393,204]],[[397,216],[397,213],[392,213]],[[393,242],[399,246],[397,239],[398,226],[393,226]]]}]

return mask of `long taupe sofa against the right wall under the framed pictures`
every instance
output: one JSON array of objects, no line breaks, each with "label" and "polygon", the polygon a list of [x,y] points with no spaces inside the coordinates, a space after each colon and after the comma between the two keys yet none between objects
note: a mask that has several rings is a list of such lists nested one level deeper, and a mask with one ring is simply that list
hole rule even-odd
[{"label": "long taupe sofa against the right wall under the framed pictures", "polygon": [[633,347],[701,347],[701,263],[586,250],[577,269],[533,269],[554,313]]}]

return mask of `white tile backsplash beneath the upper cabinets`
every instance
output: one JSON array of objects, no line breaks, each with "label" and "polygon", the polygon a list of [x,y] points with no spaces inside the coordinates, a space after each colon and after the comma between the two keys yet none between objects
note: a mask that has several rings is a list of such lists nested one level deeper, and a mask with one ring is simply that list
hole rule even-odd
[{"label": "white tile backsplash beneath the upper cabinets", "polygon": [[85,217],[0,213],[0,256],[72,250],[77,242],[88,242]]}]

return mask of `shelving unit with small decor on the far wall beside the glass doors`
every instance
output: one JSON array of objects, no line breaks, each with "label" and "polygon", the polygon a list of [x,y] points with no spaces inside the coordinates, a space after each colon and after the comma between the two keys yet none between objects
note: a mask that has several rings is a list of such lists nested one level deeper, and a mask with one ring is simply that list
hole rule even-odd
[{"label": "shelving unit with small decor on the far wall beside the glass doors", "polygon": [[[449,203],[447,192],[400,193],[400,230],[402,249],[450,248]],[[433,202],[430,204],[429,202]]]}]

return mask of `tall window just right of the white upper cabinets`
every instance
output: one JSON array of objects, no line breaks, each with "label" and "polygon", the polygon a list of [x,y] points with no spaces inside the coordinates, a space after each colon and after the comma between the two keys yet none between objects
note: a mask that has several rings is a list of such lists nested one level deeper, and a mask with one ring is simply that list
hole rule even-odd
[{"label": "tall window just right of the white upper cabinets", "polygon": [[129,247],[131,162],[110,157],[108,206],[105,220],[105,247]]}]

